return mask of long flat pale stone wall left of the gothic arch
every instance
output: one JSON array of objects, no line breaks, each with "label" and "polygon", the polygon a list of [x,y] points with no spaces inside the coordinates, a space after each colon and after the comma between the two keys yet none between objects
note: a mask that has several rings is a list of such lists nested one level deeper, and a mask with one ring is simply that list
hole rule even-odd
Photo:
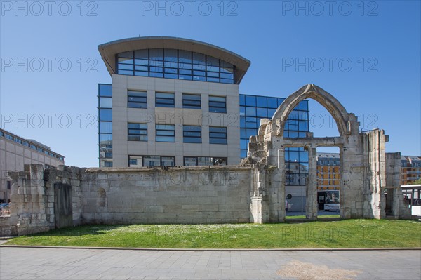
[{"label": "long flat pale stone wall left of the gothic arch", "polygon": [[86,170],[82,224],[250,222],[247,167]]}]

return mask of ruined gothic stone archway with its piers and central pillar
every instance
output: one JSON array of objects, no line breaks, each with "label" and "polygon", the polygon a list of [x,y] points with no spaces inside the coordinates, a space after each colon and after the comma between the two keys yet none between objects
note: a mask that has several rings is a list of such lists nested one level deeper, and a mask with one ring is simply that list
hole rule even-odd
[{"label": "ruined gothic stone archway with its piers and central pillar", "polygon": [[[288,115],[298,103],[312,98],[325,107],[335,119],[339,137],[285,138],[283,128]],[[316,148],[340,148],[341,218],[385,217],[385,142],[388,136],[382,130],[359,133],[359,122],[354,114],[322,88],[309,84],[290,95],[276,110],[272,119],[262,119],[258,135],[250,137],[248,159],[243,164],[258,164],[254,176],[255,192],[251,198],[252,220],[280,222],[285,220],[285,163],[286,147],[305,147],[309,152],[307,178],[307,219],[317,218]],[[265,168],[262,168],[262,165]],[[264,189],[264,192],[259,189]]]}]

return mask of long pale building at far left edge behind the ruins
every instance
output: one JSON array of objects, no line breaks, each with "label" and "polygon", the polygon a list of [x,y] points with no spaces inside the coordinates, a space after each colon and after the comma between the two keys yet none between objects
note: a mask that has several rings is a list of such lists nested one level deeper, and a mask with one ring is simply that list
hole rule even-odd
[{"label": "long pale building at far left edge behind the ruins", "polygon": [[24,164],[57,168],[65,164],[65,157],[40,142],[0,129],[0,203],[9,202],[11,197],[11,180],[8,180],[7,172],[24,171]]}]

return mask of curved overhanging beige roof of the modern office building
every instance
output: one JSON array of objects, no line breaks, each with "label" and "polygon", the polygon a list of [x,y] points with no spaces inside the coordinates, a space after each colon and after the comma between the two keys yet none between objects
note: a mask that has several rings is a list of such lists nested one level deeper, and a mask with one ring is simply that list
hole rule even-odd
[{"label": "curved overhanging beige roof of the modern office building", "polygon": [[104,60],[107,70],[110,75],[116,74],[116,54],[125,51],[142,50],[146,48],[175,48],[184,51],[194,51],[196,53],[203,53],[205,55],[219,58],[226,62],[235,65],[234,83],[240,84],[244,74],[246,74],[250,66],[250,60],[237,55],[225,48],[220,48],[212,44],[195,41],[190,39],[183,39],[178,37],[167,36],[147,36],[134,37],[128,39],[121,39],[111,41],[109,43],[98,46],[102,60]]}]

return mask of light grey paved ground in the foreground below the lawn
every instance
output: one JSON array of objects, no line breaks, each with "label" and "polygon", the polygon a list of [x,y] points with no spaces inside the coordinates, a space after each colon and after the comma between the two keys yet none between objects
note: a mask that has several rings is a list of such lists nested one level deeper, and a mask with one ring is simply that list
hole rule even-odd
[{"label": "light grey paved ground in the foreground below the lawn", "polygon": [[0,279],[421,279],[421,251],[0,247]]}]

